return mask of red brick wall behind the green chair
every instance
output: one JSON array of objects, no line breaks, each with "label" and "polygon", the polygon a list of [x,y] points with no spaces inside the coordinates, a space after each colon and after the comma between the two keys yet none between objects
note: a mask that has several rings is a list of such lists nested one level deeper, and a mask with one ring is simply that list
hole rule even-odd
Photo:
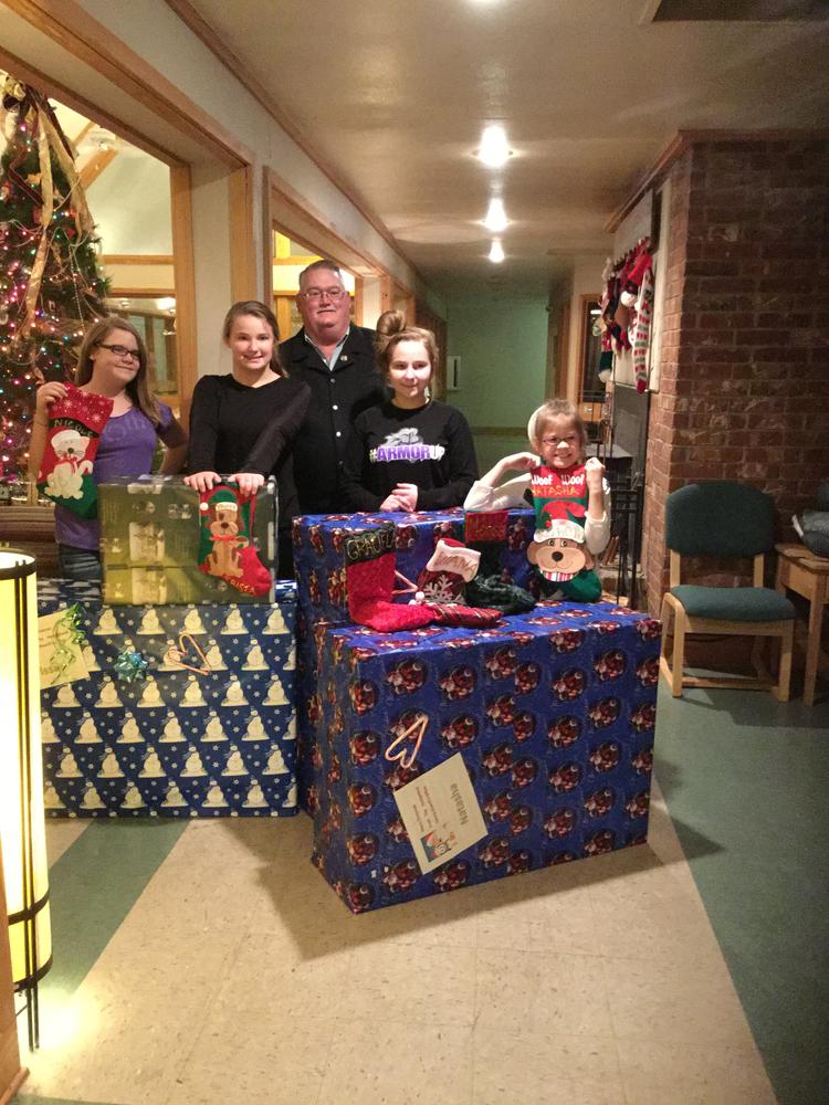
[{"label": "red brick wall behind the green chair", "polygon": [[745,480],[774,496],[791,538],[791,514],[829,476],[829,141],[700,143],[670,181],[642,557],[652,611],[670,492]]}]

